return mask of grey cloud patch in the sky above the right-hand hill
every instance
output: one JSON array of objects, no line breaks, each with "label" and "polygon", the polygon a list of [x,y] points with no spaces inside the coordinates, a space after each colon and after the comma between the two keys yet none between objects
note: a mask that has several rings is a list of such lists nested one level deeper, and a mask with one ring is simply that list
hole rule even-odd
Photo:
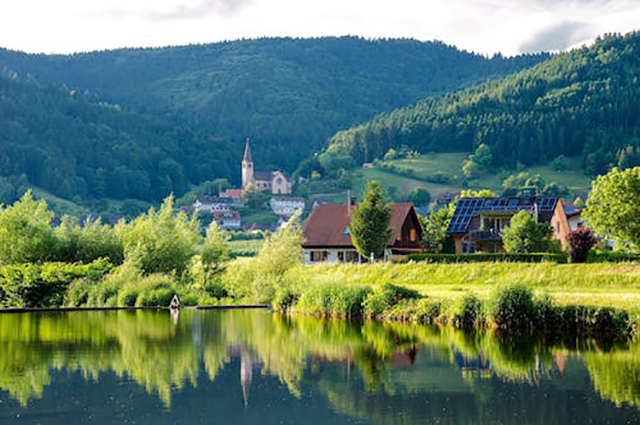
[{"label": "grey cloud patch in the sky above the right-hand hill", "polygon": [[535,33],[519,50],[524,53],[565,50],[592,38],[592,29],[586,22],[562,21]]}]

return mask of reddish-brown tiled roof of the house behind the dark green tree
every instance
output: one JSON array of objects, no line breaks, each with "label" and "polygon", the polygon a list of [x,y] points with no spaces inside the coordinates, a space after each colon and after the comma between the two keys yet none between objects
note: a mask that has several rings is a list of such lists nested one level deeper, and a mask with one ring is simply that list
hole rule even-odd
[{"label": "reddish-brown tiled roof of the house behind the dark green tree", "polygon": [[[390,204],[392,214],[389,228],[393,230],[393,236],[389,239],[389,245],[393,245],[396,233],[402,229],[407,215],[413,209],[413,204]],[[351,212],[357,205],[351,207]],[[306,239],[302,246],[319,247],[352,247],[351,236],[345,234],[349,226],[349,214],[347,204],[318,205],[304,224],[303,232]]]}]

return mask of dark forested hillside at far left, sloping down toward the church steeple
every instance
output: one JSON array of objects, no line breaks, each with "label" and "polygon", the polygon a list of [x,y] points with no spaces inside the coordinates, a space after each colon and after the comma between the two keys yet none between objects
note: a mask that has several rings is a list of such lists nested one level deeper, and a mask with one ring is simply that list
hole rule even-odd
[{"label": "dark forested hillside at far left, sloping down toward the church steeple", "polygon": [[0,203],[29,185],[76,202],[155,201],[212,174],[230,174],[232,153],[228,143],[184,125],[0,72]]}]

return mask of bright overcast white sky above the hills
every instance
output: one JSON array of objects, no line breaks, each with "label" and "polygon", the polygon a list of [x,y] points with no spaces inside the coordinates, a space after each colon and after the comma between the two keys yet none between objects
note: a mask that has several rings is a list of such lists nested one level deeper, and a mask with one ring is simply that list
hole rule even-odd
[{"label": "bright overcast white sky above the hills", "polygon": [[262,36],[442,40],[512,55],[640,29],[640,0],[3,0],[0,47],[70,53]]}]

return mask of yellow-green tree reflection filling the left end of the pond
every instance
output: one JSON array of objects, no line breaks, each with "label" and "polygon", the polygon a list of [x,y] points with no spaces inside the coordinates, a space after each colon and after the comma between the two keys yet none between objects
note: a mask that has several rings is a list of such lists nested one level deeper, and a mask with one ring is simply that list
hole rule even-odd
[{"label": "yellow-green tree reflection filling the left end of the pond", "polygon": [[[188,318],[187,318],[188,319]],[[198,362],[188,320],[149,311],[15,314],[0,321],[0,388],[21,404],[42,395],[50,369],[127,375],[167,404],[171,387],[195,385]]]}]

